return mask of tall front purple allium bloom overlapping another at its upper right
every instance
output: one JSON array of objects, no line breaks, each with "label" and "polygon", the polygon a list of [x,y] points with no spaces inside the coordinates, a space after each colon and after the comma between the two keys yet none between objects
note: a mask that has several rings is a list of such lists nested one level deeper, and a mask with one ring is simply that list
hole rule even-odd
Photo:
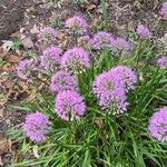
[{"label": "tall front purple allium bloom overlapping another at its upper right", "polygon": [[122,79],[114,72],[102,72],[94,81],[94,92],[99,105],[112,114],[121,114],[127,109],[125,86]]}]

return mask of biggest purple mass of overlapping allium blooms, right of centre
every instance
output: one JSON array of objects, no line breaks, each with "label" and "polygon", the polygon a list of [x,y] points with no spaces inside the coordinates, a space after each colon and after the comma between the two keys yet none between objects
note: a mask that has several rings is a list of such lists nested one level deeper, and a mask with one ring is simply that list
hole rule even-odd
[{"label": "biggest purple mass of overlapping allium blooms, right of centre", "polygon": [[126,67],[118,66],[99,75],[94,81],[94,92],[104,109],[120,114],[127,110],[126,92],[136,84],[135,72]]}]

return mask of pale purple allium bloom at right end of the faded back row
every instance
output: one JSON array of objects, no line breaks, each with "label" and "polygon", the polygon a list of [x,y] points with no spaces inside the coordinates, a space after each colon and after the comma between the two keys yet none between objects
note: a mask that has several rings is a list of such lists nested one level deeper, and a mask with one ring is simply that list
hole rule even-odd
[{"label": "pale purple allium bloom at right end of the faded back row", "polygon": [[117,38],[114,42],[114,49],[129,51],[131,49],[131,45],[124,38]]}]

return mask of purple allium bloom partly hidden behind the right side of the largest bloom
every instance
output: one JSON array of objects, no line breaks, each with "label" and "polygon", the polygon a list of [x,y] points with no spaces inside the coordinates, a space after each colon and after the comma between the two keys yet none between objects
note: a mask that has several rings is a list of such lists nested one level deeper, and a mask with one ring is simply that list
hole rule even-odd
[{"label": "purple allium bloom partly hidden behind the right side of the largest bloom", "polygon": [[119,76],[120,79],[124,80],[126,91],[129,89],[134,89],[134,85],[137,82],[137,77],[136,73],[129,67],[117,66],[111,68],[110,72],[112,72],[116,76]]}]

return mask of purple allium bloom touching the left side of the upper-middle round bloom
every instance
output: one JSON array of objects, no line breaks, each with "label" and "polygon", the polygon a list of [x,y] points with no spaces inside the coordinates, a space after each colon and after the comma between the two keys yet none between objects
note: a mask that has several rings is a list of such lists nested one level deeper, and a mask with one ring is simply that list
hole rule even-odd
[{"label": "purple allium bloom touching the left side of the upper-middle round bloom", "polygon": [[58,47],[50,47],[43,50],[40,57],[40,66],[48,71],[56,71],[60,65],[61,49]]}]

